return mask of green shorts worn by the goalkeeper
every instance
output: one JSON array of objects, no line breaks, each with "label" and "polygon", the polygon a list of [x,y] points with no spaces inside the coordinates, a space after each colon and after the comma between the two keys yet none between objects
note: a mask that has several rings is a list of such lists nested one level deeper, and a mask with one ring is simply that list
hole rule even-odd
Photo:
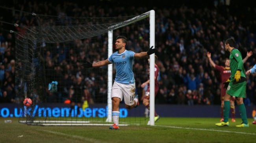
[{"label": "green shorts worn by the goalkeeper", "polygon": [[230,96],[246,98],[245,90],[246,90],[246,81],[243,81],[241,83],[230,82],[226,90],[226,93],[229,94]]}]

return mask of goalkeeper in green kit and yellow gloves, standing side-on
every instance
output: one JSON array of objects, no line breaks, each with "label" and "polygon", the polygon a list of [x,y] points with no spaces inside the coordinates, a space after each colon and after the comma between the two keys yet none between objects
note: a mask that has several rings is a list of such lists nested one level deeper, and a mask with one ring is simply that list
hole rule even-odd
[{"label": "goalkeeper in green kit and yellow gloves, standing side-on", "polygon": [[245,98],[245,90],[246,90],[246,78],[245,78],[245,70],[243,68],[243,59],[241,53],[235,49],[236,42],[234,39],[229,38],[225,42],[226,51],[230,52],[229,60],[230,60],[230,69],[231,76],[224,83],[226,85],[226,94],[224,96],[224,121],[221,123],[216,123],[216,126],[229,126],[228,117],[230,111],[230,98],[232,96],[236,96],[236,103],[239,107],[242,123],[240,125],[236,125],[236,127],[249,127],[246,109],[243,103],[243,98]]}]

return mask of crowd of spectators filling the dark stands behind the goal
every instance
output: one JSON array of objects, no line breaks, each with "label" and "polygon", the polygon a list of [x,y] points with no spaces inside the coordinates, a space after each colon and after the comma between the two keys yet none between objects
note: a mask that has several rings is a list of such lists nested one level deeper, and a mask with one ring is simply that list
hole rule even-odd
[{"label": "crowd of spectators filling the dark stands behind the goal", "polygon": [[[14,0],[15,2],[17,1]],[[52,2],[27,0],[23,4],[15,4],[13,8],[45,15],[76,17],[137,15],[154,9],[156,14],[155,45],[158,48],[158,52],[156,52],[158,61],[156,64],[160,68],[160,90],[156,97],[156,103],[220,105],[220,86],[222,83],[220,83],[218,71],[215,71],[210,66],[206,52],[211,52],[211,58],[217,65],[224,65],[224,60],[229,58],[229,54],[225,51],[223,42],[227,38],[234,37],[237,42],[237,48],[241,51],[243,58],[248,51],[253,52],[253,55],[244,64],[246,71],[250,69],[256,63],[256,9],[246,6],[239,7],[238,11],[237,5],[227,5],[222,0],[211,2],[212,4],[207,7],[168,5],[160,8],[157,6],[124,7],[120,5],[118,7],[114,5],[106,7],[97,5],[82,6],[75,2],[54,4]],[[30,26],[35,22],[27,13],[17,11],[11,14],[12,23]],[[0,102],[15,103],[17,92],[17,87],[15,86],[15,37],[4,30],[6,29],[2,28],[0,31]],[[147,33],[141,31],[138,34],[141,34],[142,38],[148,36]],[[128,40],[132,39],[132,36],[134,35],[128,35]],[[135,52],[143,50],[143,43],[139,43],[139,40],[134,40],[133,42],[135,42],[133,45],[138,46],[130,48],[134,49]],[[86,40],[82,43],[86,43]],[[87,54],[95,57],[99,56],[95,60],[106,59],[106,51],[104,55],[98,53],[97,51],[92,51]],[[50,73],[52,72],[59,73],[56,75],[59,75],[59,80],[62,80],[62,84],[65,83],[59,89],[59,94],[48,93],[48,96],[51,97],[48,98],[48,102],[63,102],[69,95],[70,86],[75,86],[74,83],[77,82],[78,72],[73,71],[74,69],[69,64],[66,64],[65,67],[61,66],[61,63],[65,61],[63,58],[67,58],[67,55],[70,56],[70,54],[70,51],[60,50],[56,61],[56,58],[54,58],[56,55],[52,51],[45,51],[46,69],[49,72],[49,74],[46,73],[46,76],[51,76]],[[89,57],[89,55],[83,54],[83,56]],[[75,63],[74,61],[77,60],[75,57],[65,62]],[[136,87],[139,94],[142,91],[140,84],[145,81],[145,79],[141,79],[138,76],[139,72],[146,72],[147,69],[145,68],[148,68],[141,64],[141,62],[135,60],[134,69],[141,69],[135,71]],[[55,68],[53,67],[54,65]],[[80,74],[82,74],[82,70]],[[247,76],[246,105],[256,105],[255,78],[255,73]],[[91,72],[91,74],[82,76],[82,81],[85,82],[85,88],[88,90],[87,98],[91,98],[91,102],[100,103],[101,101],[96,98],[99,94],[107,98],[107,85],[103,76]],[[95,85],[96,81],[97,85]],[[104,101],[107,102],[107,100]]]}]

